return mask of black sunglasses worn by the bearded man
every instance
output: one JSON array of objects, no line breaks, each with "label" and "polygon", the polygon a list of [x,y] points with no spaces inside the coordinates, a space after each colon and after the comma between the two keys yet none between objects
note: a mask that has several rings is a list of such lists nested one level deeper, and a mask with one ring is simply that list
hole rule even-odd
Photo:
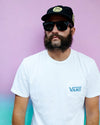
[{"label": "black sunglasses worn by the bearded man", "polygon": [[59,31],[64,31],[69,26],[72,28],[72,24],[68,21],[58,21],[58,22],[44,22],[43,27],[45,31],[52,31],[54,28],[54,25],[56,24],[56,27]]}]

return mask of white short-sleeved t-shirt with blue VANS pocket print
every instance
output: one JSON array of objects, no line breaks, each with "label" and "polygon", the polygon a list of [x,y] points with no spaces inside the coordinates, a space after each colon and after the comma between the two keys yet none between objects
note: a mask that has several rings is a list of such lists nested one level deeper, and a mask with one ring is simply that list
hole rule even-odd
[{"label": "white short-sleeved t-shirt with blue VANS pocket print", "polygon": [[11,91],[30,96],[32,125],[84,125],[84,100],[100,95],[100,72],[93,59],[75,50],[64,61],[44,50],[23,60]]}]

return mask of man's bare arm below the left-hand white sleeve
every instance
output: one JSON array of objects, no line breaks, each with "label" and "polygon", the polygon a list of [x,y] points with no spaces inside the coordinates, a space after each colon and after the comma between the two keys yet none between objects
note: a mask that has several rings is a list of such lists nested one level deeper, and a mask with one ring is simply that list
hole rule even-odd
[{"label": "man's bare arm below the left-hand white sleeve", "polygon": [[29,98],[15,95],[14,110],[12,116],[12,125],[24,125],[25,114]]}]

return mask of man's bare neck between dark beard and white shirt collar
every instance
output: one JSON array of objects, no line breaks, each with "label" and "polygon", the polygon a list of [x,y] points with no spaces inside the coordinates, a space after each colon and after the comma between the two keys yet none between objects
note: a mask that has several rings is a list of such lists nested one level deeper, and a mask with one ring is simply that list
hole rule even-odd
[{"label": "man's bare neck between dark beard and white shirt collar", "polygon": [[70,52],[71,52],[70,48],[68,48],[64,52],[62,52],[61,50],[53,50],[53,51],[48,50],[49,56],[57,61],[64,61],[65,59],[67,59],[70,55]]}]

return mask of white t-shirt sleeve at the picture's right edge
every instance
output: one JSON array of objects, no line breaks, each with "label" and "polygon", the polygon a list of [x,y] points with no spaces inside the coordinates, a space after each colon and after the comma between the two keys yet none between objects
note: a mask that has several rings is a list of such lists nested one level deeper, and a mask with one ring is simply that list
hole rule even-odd
[{"label": "white t-shirt sleeve at the picture's right edge", "polygon": [[95,61],[90,64],[90,70],[87,75],[86,97],[92,98],[100,95],[100,72]]}]

